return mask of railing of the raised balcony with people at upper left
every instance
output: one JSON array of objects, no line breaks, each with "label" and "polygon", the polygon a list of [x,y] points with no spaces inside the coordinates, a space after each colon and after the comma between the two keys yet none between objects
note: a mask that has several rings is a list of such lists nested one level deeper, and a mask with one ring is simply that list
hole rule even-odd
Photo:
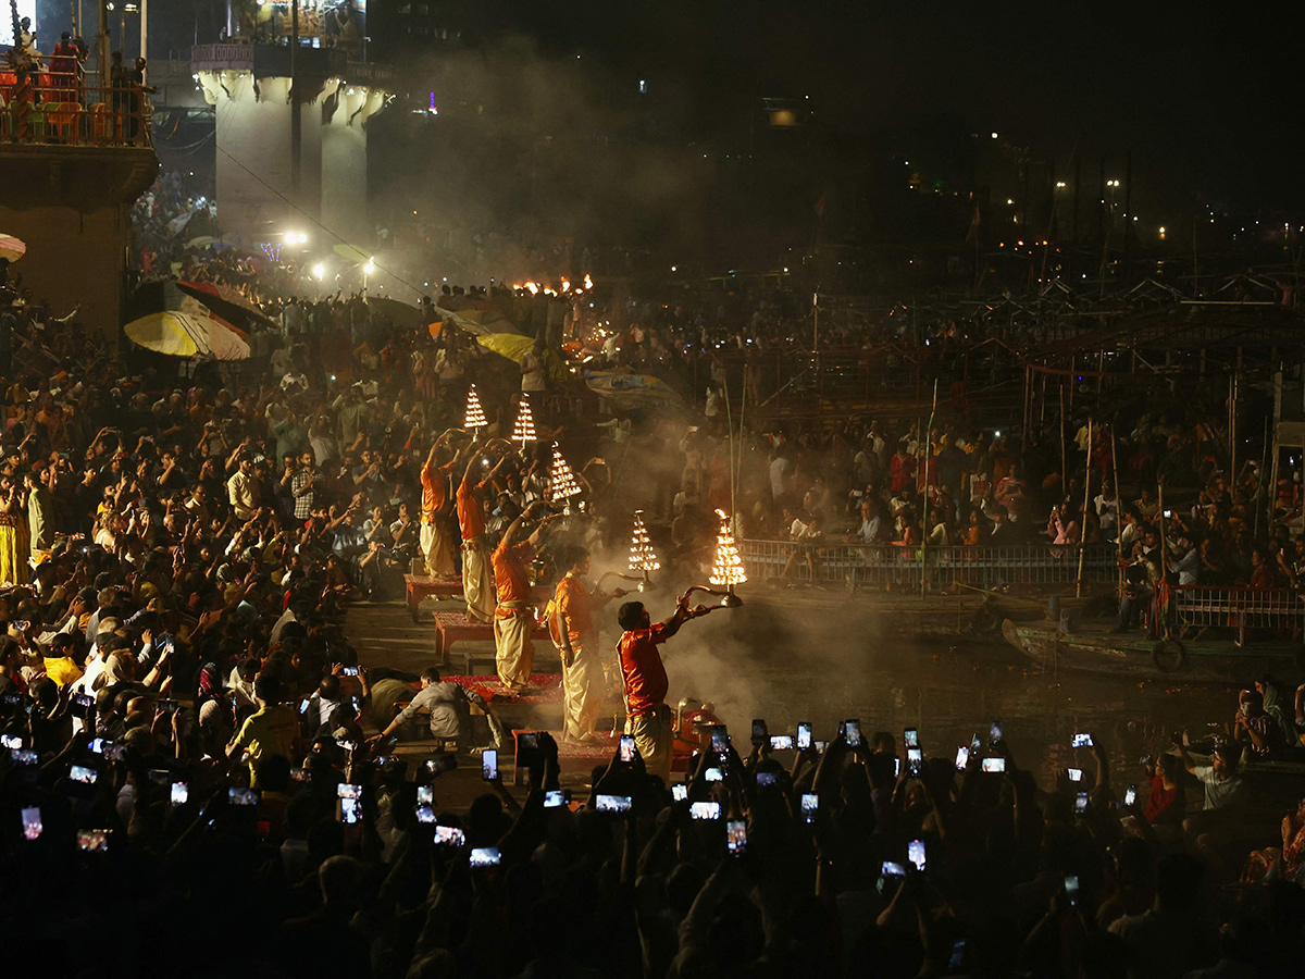
[{"label": "railing of the raised balcony with people at upper left", "polygon": [[0,72],[0,142],[149,146],[145,93],[78,84],[77,76]]}]

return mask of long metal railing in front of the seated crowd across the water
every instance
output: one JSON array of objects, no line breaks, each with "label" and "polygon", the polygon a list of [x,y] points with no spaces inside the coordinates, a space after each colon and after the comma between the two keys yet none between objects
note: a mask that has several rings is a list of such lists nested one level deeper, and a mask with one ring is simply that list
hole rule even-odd
[{"label": "long metal railing in front of the seated crowd across the water", "polygon": [[923,576],[933,587],[1069,585],[1078,581],[1081,550],[1084,551],[1084,582],[1116,580],[1118,552],[1113,544],[1087,544],[1086,548],[1069,544],[951,544],[928,547],[921,553],[915,544],[850,544],[837,538],[814,543],[739,542],[739,553],[753,581],[775,577],[788,568],[790,576],[799,581],[867,587],[919,587]]}]

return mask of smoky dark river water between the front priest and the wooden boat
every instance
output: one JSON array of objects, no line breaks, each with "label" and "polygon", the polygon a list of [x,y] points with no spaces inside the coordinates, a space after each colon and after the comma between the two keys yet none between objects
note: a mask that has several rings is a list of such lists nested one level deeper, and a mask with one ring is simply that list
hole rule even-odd
[{"label": "smoky dark river water between the front priest and the wooden boat", "polygon": [[1001,721],[1017,764],[1039,771],[1044,787],[1054,768],[1092,768],[1087,752],[1069,747],[1077,732],[1105,744],[1116,785],[1126,786],[1143,778],[1139,757],[1163,751],[1173,731],[1203,735],[1236,710],[1229,688],[1043,675],[1004,645],[903,638],[885,634],[881,623],[853,604],[761,603],[690,623],[663,646],[669,698],[713,700],[744,753],[754,717],[766,718],[771,734],[810,721],[817,740],[856,717],[867,736],[893,732],[899,753],[902,730],[917,727],[925,756],[947,758],[975,734],[987,741],[990,722]]}]

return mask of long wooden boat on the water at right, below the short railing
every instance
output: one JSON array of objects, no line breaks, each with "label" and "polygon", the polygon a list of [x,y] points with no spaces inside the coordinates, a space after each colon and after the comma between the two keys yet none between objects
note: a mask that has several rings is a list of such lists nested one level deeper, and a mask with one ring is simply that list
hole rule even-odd
[{"label": "long wooden boat on the water at right, below the short railing", "polygon": [[1232,640],[1148,640],[1142,632],[1112,633],[1107,624],[1065,632],[1058,623],[1006,619],[1002,636],[1045,672],[1074,670],[1138,680],[1248,685],[1257,674],[1295,676],[1300,642],[1288,640],[1238,646]]}]

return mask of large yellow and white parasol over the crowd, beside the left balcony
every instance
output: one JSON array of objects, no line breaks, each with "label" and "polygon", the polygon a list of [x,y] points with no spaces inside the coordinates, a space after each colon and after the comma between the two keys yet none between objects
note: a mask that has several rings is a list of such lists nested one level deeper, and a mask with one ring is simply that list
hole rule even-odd
[{"label": "large yellow and white parasol over the crowd, beside the left balcony", "polygon": [[172,282],[151,282],[132,296],[128,339],[166,356],[244,360],[249,335]]}]

